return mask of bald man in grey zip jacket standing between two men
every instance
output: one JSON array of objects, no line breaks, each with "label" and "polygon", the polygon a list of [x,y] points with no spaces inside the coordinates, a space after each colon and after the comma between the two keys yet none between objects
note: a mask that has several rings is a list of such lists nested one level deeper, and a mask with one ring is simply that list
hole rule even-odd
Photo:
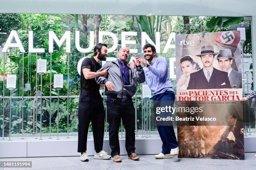
[{"label": "bald man in grey zip jacket standing between two men", "polygon": [[123,47],[118,52],[118,60],[106,63],[99,71],[105,68],[108,76],[95,78],[97,84],[105,84],[107,94],[107,118],[109,122],[109,144],[114,162],[121,162],[118,132],[122,119],[125,127],[125,149],[128,158],[138,160],[135,154],[135,110],[132,96],[136,93],[137,83],[145,81],[144,71],[139,61],[133,61],[136,69],[132,69],[127,60],[129,48]]}]

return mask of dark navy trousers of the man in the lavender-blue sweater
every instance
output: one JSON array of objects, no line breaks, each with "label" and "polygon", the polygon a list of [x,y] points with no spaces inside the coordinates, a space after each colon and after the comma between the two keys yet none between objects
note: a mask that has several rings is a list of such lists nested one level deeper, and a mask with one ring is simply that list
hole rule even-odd
[{"label": "dark navy trousers of the man in the lavender-blue sweater", "polygon": [[[173,91],[164,91],[164,93],[154,95],[153,101],[154,101],[155,113],[156,113],[156,107],[166,107],[167,103],[168,103],[168,107],[169,106],[173,107],[174,100],[175,100],[175,94]],[[174,128],[172,124],[169,126],[158,125],[157,130],[163,142],[162,153],[169,154],[171,152],[171,149],[176,148],[178,146]]]}]

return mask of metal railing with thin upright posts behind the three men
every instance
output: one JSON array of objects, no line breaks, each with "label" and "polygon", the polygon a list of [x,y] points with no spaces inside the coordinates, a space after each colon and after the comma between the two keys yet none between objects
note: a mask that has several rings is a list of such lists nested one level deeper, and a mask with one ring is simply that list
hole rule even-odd
[{"label": "metal railing with thin upright posts behind the three men", "polygon": [[[36,106],[33,104],[33,111],[36,110],[36,112],[33,112],[33,124],[32,124],[32,128],[33,128],[33,132],[32,134],[34,134],[34,136],[36,137],[35,139],[38,139],[37,138],[37,135],[38,135],[38,128],[40,130],[39,134],[40,134],[40,138],[39,140],[42,140],[42,121],[40,119],[40,121],[38,121],[37,119],[37,107],[42,107],[41,104],[42,102],[40,102],[40,105],[38,106],[37,104],[37,100],[39,99],[50,99],[50,112],[49,112],[49,138],[51,139],[52,138],[52,132],[51,132],[51,102],[52,100],[51,99],[58,99],[58,96],[0,96],[0,99],[3,100],[3,102],[6,103],[5,99],[9,99],[8,102],[13,102],[14,99],[22,99],[22,129],[21,129],[21,132],[22,132],[22,138],[21,139],[25,139],[24,138],[24,126],[23,126],[23,121],[24,121],[24,114],[23,114],[23,107],[24,107],[24,101],[26,101],[26,99],[34,99],[36,101]],[[59,96],[59,99],[72,99],[72,98],[79,98],[79,96],[77,95],[74,95],[74,96]],[[57,104],[59,105],[59,99],[58,99],[58,102]],[[108,137],[108,121],[107,121],[107,104],[105,102],[105,99],[106,99],[106,96],[102,96],[102,99],[103,99],[103,104],[104,104],[104,107],[105,107],[105,111],[106,111],[106,117],[105,117],[105,131],[104,131],[104,137]],[[141,137],[151,137],[151,104],[150,104],[150,100],[145,100],[142,98],[141,95],[134,95],[132,97],[132,99],[134,100],[134,107],[135,107],[135,132],[136,132],[136,137],[138,137],[138,123],[141,122],[141,133],[139,134]],[[141,120],[140,121],[138,119],[138,99],[141,99],[141,108],[142,108],[142,113],[141,113]],[[5,103],[3,103],[3,120],[5,119],[4,117],[4,111],[5,111]],[[35,108],[34,108],[35,107]],[[67,110],[69,109],[69,106],[67,106]],[[67,111],[68,112],[68,111]],[[11,107],[10,107],[10,114],[11,114]],[[41,114],[41,113],[40,113]],[[69,115],[69,112],[68,112],[68,115]],[[59,116],[59,112],[58,112],[58,116]],[[35,119],[35,120],[34,120]],[[56,117],[56,119],[58,119]],[[69,117],[67,118],[67,138],[69,137]],[[11,124],[12,124],[12,118],[10,117],[9,118],[9,128],[7,126],[4,126],[6,122],[3,121],[3,123],[1,125],[3,125],[3,127],[5,127],[6,130],[9,131],[9,140],[11,140]],[[58,119],[59,120],[59,119]],[[38,127],[38,122],[40,122],[40,126]],[[57,121],[59,122],[59,121]],[[59,123],[57,123],[57,128],[59,128]],[[123,123],[121,122],[121,127],[120,127],[120,134],[121,134],[121,138],[124,138],[125,137],[125,128],[123,126]],[[44,135],[45,136],[45,135]],[[57,133],[57,139],[59,139],[59,135]],[[89,127],[89,131],[88,131],[88,138],[90,138],[90,127]],[[2,140],[4,140],[5,137],[4,137],[4,128],[3,128],[3,134],[2,134]]]}]

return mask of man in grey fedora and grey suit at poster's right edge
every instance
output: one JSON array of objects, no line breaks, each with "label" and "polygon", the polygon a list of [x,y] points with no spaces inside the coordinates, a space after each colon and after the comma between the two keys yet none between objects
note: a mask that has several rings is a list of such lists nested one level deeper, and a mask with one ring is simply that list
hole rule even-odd
[{"label": "man in grey fedora and grey suit at poster's right edge", "polygon": [[241,72],[235,71],[233,68],[231,68],[231,65],[233,63],[231,50],[228,48],[220,50],[216,58],[220,65],[220,69],[222,71],[228,72],[228,79],[230,81],[231,87],[233,89],[242,88]]}]

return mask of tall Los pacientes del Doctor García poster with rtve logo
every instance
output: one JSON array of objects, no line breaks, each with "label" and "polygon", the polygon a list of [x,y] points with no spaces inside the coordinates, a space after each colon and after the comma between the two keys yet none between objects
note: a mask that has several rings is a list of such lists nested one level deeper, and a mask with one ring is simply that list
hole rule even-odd
[{"label": "tall Los pacientes del Doctor Garc\u00eda poster with rtve logo", "polygon": [[175,39],[179,157],[244,160],[240,32]]}]

